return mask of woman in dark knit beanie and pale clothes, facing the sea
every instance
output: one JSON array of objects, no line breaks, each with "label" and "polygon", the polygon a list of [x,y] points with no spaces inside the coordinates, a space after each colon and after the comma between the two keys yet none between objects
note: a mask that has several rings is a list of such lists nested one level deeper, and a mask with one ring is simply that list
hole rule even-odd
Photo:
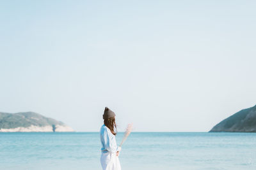
[{"label": "woman in dark knit beanie and pale clothes, facing the sea", "polygon": [[109,108],[104,110],[104,124],[100,128],[100,141],[102,144],[100,163],[103,170],[121,170],[118,159],[121,147],[116,145],[115,113]]}]

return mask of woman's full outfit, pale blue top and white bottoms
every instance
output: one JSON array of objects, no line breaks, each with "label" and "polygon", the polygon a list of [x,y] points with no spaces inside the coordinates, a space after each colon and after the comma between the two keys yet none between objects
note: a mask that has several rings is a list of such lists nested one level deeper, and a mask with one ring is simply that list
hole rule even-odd
[{"label": "woman's full outfit, pale blue top and white bottoms", "polygon": [[106,125],[100,128],[100,141],[102,144],[100,163],[103,170],[121,170],[116,152],[121,148],[116,145],[116,137]]}]

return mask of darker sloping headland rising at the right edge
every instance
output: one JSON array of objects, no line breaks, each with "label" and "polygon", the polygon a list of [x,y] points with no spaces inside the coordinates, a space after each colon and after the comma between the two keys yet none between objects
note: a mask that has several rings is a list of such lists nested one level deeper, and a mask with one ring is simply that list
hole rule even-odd
[{"label": "darker sloping headland rising at the right edge", "polygon": [[209,132],[256,132],[256,105],[222,120]]}]

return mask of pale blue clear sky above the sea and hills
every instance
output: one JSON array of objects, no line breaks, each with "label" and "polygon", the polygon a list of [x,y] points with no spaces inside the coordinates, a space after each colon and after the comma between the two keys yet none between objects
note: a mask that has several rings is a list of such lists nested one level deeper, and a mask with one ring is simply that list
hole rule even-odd
[{"label": "pale blue clear sky above the sea and hills", "polygon": [[0,111],[207,132],[256,100],[255,1],[0,1]]}]

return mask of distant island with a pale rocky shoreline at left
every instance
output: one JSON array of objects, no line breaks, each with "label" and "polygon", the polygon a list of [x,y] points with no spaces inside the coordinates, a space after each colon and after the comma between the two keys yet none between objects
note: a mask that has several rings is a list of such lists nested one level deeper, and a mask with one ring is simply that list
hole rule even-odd
[{"label": "distant island with a pale rocky shoreline at left", "polygon": [[0,132],[74,132],[63,122],[35,112],[0,112]]}]

